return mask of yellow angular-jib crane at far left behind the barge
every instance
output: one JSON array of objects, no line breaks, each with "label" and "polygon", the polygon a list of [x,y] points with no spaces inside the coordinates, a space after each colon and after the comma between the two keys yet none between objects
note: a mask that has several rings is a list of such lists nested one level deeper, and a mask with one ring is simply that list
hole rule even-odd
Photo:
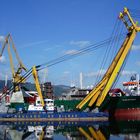
[{"label": "yellow angular-jib crane at far left behind the barge", "polygon": [[[18,66],[18,68],[17,68],[16,71],[14,69],[13,57],[12,57],[12,53],[11,53],[11,50],[10,50],[10,46],[11,45],[12,45],[12,48],[13,48],[14,53],[16,55],[16,59],[18,61],[18,64],[19,64],[19,66]],[[6,38],[5,38],[5,41],[4,41],[3,46],[2,46],[2,50],[0,52],[0,57],[3,55],[4,49],[6,48],[6,46],[8,48],[8,55],[9,55],[10,67],[11,67],[11,71],[12,71],[13,84],[16,85],[14,87],[15,88],[14,90],[15,91],[18,91],[19,88],[18,88],[18,84],[17,83],[19,83],[19,81],[22,81],[22,83],[25,82],[25,79],[23,80],[22,79],[23,77],[21,76],[22,70],[24,70],[25,72],[27,72],[27,69],[23,65],[22,61],[20,60],[20,58],[18,56],[17,50],[16,50],[15,45],[14,45],[14,42],[12,40],[12,36],[10,34],[8,34],[6,36]]]}]

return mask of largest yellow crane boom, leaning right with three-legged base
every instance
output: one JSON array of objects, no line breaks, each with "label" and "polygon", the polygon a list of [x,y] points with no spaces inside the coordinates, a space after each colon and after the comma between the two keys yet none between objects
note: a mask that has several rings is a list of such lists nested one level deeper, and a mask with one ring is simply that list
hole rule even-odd
[{"label": "largest yellow crane boom, leaning right with three-legged base", "polygon": [[119,71],[127,57],[128,52],[130,51],[137,32],[140,32],[140,27],[137,25],[137,22],[132,19],[127,8],[124,8],[123,12],[120,13],[119,19],[122,20],[126,26],[128,34],[101,81],[76,106],[76,108],[79,110],[82,109],[82,107],[87,103],[89,107],[92,107],[93,105],[95,105],[97,108],[101,107],[110,88],[117,78],[117,75],[119,74]]}]

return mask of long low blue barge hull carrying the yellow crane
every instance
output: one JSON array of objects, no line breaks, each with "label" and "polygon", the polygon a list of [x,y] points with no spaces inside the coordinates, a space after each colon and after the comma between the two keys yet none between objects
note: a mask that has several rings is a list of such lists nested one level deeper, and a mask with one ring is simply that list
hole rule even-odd
[{"label": "long low blue barge hull carrying the yellow crane", "polygon": [[97,122],[108,121],[108,113],[92,112],[28,112],[28,113],[0,113],[0,121],[25,122]]}]

